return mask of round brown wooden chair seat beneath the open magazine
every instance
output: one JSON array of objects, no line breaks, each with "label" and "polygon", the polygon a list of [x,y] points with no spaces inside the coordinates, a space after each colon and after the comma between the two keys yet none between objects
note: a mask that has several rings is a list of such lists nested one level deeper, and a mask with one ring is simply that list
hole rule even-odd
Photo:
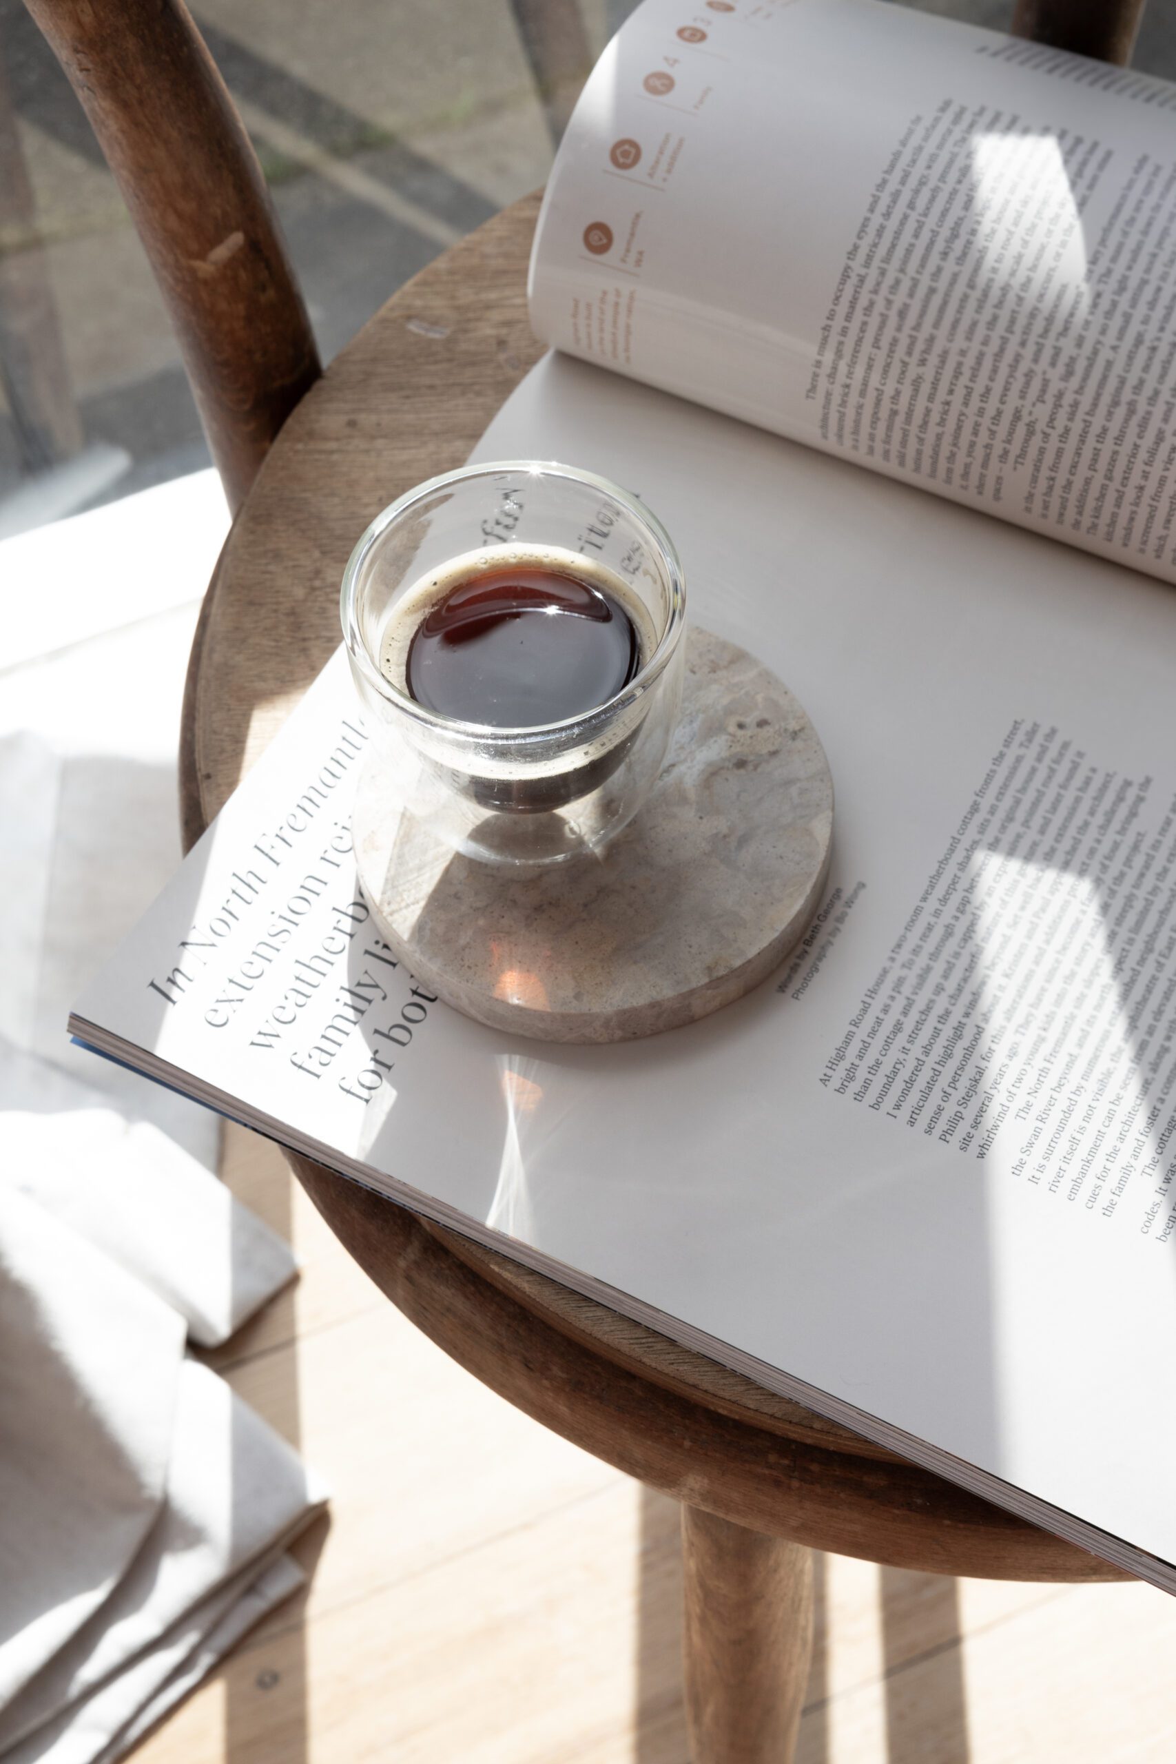
[{"label": "round brown wooden chair seat beneath the open magazine", "polygon": [[[339,582],[356,536],[413,483],[460,466],[541,353],[525,310],[536,213],[538,196],[517,203],[402,288],[273,445],[192,647],[180,753],[187,843],[339,644]],[[453,1358],[652,1487],[894,1566],[1127,1579],[555,1281],[291,1162],[367,1274]]]}]

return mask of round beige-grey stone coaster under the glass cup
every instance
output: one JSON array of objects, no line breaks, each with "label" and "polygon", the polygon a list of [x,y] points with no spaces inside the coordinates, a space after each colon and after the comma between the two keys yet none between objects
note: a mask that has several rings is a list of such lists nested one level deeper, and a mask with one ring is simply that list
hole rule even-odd
[{"label": "round beige-grey stone coaster under the glass cup", "polygon": [[547,870],[367,820],[360,880],[416,979],[492,1028],[628,1041],[741,998],[800,938],[832,845],[832,778],[788,688],[691,630],[682,714],[636,818]]}]

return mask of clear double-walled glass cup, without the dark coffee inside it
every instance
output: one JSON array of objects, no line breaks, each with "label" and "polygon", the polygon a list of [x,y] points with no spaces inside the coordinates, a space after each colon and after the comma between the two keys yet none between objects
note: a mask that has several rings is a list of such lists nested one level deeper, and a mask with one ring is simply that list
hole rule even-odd
[{"label": "clear double-walled glass cup, without the dark coffee inside it", "polygon": [[[638,640],[633,679],[603,704],[534,727],[494,729],[425,707],[407,686],[414,630],[448,584],[513,566],[562,570],[619,602]],[[661,771],[682,688],[682,566],[661,522],[605,478],[508,460],[418,485],[351,554],[342,626],[372,730],[356,850],[376,820],[411,815],[488,863],[601,852]]]}]

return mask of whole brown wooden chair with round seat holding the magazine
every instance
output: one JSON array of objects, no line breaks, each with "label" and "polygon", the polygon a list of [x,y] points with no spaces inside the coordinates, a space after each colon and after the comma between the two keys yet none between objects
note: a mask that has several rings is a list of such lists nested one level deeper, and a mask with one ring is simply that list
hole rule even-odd
[{"label": "whole brown wooden chair with round seat holding the magazine", "polygon": [[[190,843],[339,642],[356,534],[464,462],[538,356],[538,198],[402,288],[321,376],[259,168],[182,0],[26,0],[155,266],[234,524],[189,667]],[[1141,0],[1021,0],[1019,25],[1125,62]],[[561,1284],[330,1171],[298,1178],[383,1291],[547,1427],[682,1503],[696,1764],[785,1760],[811,1644],[811,1551],[1019,1581],[1127,1575]]]}]

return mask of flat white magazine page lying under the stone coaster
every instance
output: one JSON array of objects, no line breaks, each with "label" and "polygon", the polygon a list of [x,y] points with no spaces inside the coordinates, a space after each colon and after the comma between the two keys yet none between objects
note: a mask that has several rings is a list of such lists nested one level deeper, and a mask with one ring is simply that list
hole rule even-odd
[{"label": "flat white magazine page lying under the stone coaster", "polygon": [[76,1034],[1176,1589],[1176,596],[566,356],[524,455],[640,492],[813,716],[795,960],[617,1046],[439,1004],[337,656]]}]

